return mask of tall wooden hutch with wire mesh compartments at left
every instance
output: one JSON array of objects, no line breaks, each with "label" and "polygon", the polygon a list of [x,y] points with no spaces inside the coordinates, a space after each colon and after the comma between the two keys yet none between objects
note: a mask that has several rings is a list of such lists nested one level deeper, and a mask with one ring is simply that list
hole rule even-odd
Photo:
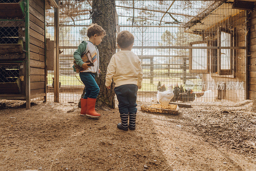
[{"label": "tall wooden hutch with wire mesh compartments at left", "polygon": [[0,99],[26,100],[27,109],[31,99],[47,96],[47,5],[44,0],[0,0]]}]

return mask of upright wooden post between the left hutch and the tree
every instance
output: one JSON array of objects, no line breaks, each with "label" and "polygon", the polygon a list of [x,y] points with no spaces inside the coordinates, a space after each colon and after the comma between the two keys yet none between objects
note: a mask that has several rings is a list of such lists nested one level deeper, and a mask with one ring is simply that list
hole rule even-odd
[{"label": "upright wooden post between the left hutch and the tree", "polygon": [[[56,0],[59,5],[59,0]],[[54,65],[54,102],[60,102],[60,58],[59,58],[59,35],[60,35],[60,19],[59,19],[59,8],[54,8],[54,45],[56,54],[56,65]]]}]

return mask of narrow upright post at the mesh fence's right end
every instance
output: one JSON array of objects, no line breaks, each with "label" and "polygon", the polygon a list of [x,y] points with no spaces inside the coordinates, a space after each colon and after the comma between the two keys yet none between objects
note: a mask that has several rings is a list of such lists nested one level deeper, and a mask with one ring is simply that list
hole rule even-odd
[{"label": "narrow upright post at the mesh fence's right end", "polygon": [[249,74],[249,63],[248,63],[248,57],[249,57],[249,46],[248,46],[248,42],[249,42],[249,11],[245,12],[245,77],[244,77],[244,81],[245,81],[245,92],[244,92],[244,98],[248,99],[249,95],[248,95],[248,74]]}]

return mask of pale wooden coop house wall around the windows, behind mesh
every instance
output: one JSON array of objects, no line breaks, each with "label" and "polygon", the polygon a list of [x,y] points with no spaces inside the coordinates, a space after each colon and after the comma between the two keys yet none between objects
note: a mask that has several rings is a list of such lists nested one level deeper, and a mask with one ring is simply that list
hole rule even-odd
[{"label": "pale wooden coop house wall around the windows, behind mesh", "polygon": [[[220,22],[219,25],[216,25],[215,28],[211,28],[211,30],[216,30],[219,26],[223,28],[231,28],[236,29],[236,46],[245,46],[245,11],[242,11],[236,14],[234,17],[230,17],[228,19],[223,20]],[[231,26],[231,27],[230,27]],[[204,74],[204,82],[215,82],[217,85],[218,82],[239,82],[243,83],[243,89],[226,89],[226,99],[230,101],[240,101],[244,100],[245,98],[245,50],[238,49],[236,50],[236,55],[234,57],[234,76],[233,75],[217,75],[217,74]],[[213,89],[215,92],[215,96],[218,95],[218,90]]]}]

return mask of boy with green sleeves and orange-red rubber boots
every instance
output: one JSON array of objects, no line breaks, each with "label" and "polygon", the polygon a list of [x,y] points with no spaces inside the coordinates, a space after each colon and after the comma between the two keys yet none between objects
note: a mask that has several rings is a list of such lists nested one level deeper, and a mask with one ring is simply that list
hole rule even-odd
[{"label": "boy with green sleeves and orange-red rubber boots", "polygon": [[[80,71],[79,76],[85,86],[84,97],[81,98],[81,113],[82,116],[100,117],[100,114],[95,111],[96,98],[100,88],[95,81],[95,76],[99,77],[99,51],[96,45],[99,45],[106,35],[105,30],[98,24],[92,24],[88,27],[87,36],[89,41],[83,41],[74,52],[76,64],[84,68]],[[88,66],[90,63],[83,62],[81,56],[90,51],[94,66]],[[73,66],[74,71],[75,67]]]}]

